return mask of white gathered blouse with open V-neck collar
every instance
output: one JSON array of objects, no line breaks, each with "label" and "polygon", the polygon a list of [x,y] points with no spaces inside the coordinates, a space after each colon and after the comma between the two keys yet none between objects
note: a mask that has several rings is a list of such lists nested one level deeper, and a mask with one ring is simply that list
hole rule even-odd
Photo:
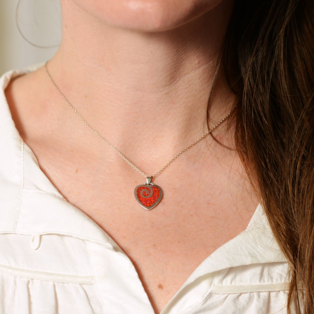
[{"label": "white gathered blouse with open V-neck collar", "polygon": [[[0,79],[0,313],[154,314],[130,259],[68,203],[14,126]],[[191,274],[162,314],[286,313],[288,263],[261,206]]]}]

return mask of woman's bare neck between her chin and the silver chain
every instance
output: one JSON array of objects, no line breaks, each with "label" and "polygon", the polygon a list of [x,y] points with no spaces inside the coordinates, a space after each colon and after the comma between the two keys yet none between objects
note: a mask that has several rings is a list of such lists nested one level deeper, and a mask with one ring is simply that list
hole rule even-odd
[{"label": "woman's bare neck between her chin and the silver chain", "polygon": [[[69,0],[62,2],[62,12],[63,40],[48,69],[85,120],[118,149],[134,157],[139,136],[145,141],[143,134],[154,130],[152,151],[164,162],[164,150],[172,156],[207,131],[208,96],[231,14],[229,1],[156,33],[109,26]],[[213,123],[228,113],[232,100],[218,76]],[[144,149],[150,155],[150,148]]]}]

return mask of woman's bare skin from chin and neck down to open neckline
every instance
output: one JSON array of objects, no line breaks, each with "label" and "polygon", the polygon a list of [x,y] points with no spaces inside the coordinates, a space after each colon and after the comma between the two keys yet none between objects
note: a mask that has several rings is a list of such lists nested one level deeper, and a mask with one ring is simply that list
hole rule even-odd
[{"label": "woman's bare skin from chin and neck down to open neckline", "polygon": [[[150,176],[207,132],[232,8],[230,0],[62,0],[62,43],[47,67],[85,120]],[[133,195],[146,179],[84,125],[43,68],[11,82],[6,96],[42,171],[131,258],[156,313],[246,229],[258,201],[232,121],[214,131],[231,149],[208,136],[187,150],[154,178],[164,195],[146,211]],[[234,100],[219,73],[210,127]]]}]

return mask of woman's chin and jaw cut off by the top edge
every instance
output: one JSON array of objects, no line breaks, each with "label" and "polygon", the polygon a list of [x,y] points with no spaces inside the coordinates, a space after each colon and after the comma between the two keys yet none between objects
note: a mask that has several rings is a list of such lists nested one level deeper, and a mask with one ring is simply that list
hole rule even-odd
[{"label": "woman's chin and jaw cut off by the top edge", "polygon": [[113,26],[143,32],[179,27],[224,0],[63,0]]}]

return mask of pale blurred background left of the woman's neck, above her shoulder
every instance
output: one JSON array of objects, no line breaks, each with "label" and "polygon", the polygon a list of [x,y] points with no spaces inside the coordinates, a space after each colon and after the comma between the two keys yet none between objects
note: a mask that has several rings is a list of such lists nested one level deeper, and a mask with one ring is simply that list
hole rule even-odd
[{"label": "pale blurred background left of the woman's neck, above her shoulder", "polygon": [[49,60],[61,35],[59,0],[0,0],[0,75]]}]

